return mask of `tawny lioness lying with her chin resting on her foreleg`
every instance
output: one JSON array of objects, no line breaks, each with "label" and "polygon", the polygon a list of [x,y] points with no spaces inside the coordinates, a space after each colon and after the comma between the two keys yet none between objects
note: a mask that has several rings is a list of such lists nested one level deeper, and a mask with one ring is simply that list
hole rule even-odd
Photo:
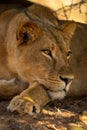
[{"label": "tawny lioness lying with her chin resting on her foreleg", "polygon": [[20,94],[11,100],[10,111],[39,113],[69,89],[74,78],[70,39],[76,24],[57,27],[54,21],[29,8],[0,14],[0,98]]}]

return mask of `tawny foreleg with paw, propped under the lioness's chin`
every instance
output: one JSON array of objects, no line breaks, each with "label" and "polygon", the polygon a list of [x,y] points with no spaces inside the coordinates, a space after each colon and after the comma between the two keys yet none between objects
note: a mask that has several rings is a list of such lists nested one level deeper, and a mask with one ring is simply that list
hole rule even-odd
[{"label": "tawny foreleg with paw, propped under the lioness's chin", "polygon": [[35,114],[39,113],[44,105],[50,101],[50,98],[42,85],[34,84],[24,90],[20,95],[14,97],[8,110],[11,112]]}]

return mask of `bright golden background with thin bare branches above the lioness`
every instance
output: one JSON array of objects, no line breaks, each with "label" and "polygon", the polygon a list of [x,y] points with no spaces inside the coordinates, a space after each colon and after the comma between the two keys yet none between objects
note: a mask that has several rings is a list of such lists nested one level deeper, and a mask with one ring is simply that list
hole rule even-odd
[{"label": "bright golden background with thin bare branches above the lioness", "polygon": [[54,11],[59,20],[74,20],[87,24],[86,0],[27,0]]}]

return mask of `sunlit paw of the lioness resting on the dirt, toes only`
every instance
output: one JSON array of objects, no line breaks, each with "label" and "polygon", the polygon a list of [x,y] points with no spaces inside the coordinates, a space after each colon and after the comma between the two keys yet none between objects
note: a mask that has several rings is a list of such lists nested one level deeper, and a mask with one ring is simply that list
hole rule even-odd
[{"label": "sunlit paw of the lioness resting on the dirt, toes only", "polygon": [[40,106],[29,97],[21,97],[19,95],[12,99],[7,110],[11,112],[17,111],[20,114],[27,113],[33,115],[40,112]]}]

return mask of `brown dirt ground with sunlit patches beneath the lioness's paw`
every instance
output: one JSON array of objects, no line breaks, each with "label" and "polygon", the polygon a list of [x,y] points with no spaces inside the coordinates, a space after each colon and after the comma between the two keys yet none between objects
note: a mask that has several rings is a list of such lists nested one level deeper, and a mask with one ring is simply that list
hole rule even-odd
[{"label": "brown dirt ground with sunlit patches beneath the lioness's paw", "polygon": [[0,130],[87,130],[87,97],[49,103],[34,116],[8,112],[0,102]]}]

